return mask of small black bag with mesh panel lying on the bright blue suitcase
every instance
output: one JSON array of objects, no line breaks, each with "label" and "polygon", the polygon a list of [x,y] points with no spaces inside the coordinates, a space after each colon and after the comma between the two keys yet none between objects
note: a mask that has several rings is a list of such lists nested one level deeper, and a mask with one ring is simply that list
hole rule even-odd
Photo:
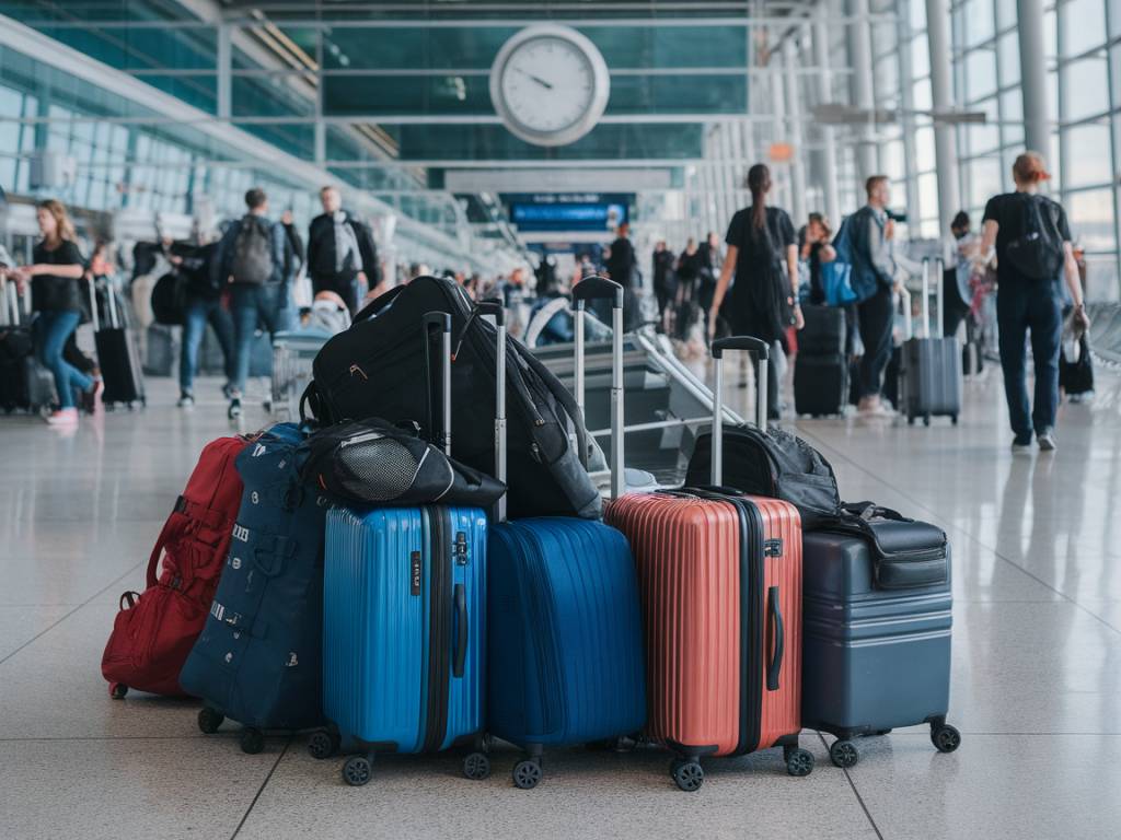
[{"label": "small black bag with mesh panel lying on the bright blue suitcase", "polygon": [[343,504],[490,507],[506,492],[497,478],[448,458],[421,440],[420,427],[377,418],[339,423],[300,446],[306,484]]}]

